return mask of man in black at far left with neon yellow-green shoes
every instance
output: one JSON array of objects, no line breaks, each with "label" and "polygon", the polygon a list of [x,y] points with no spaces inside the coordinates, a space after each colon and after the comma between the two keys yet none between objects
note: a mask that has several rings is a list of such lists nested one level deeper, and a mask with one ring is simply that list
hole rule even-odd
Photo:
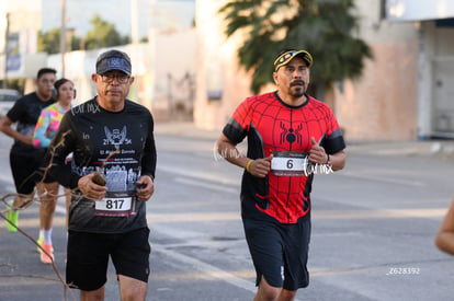
[{"label": "man in black at far left with neon yellow-green shoes", "polygon": [[[18,196],[8,211],[8,219],[14,224],[7,221],[10,232],[18,231],[19,209],[33,199],[35,184],[41,181],[38,169],[45,150],[35,149],[32,139],[41,111],[55,103],[52,97],[55,77],[56,70],[39,69],[35,81],[36,91],[19,99],[0,120],[0,130],[14,139],[10,151],[10,166]],[[42,186],[36,187],[41,195]]]}]

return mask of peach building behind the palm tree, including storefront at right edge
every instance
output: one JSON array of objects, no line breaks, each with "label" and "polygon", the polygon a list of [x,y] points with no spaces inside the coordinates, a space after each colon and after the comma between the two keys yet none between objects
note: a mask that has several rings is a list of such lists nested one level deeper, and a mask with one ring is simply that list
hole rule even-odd
[{"label": "peach building behind the palm tree, including storefront at right edge", "polygon": [[[454,137],[454,42],[447,19],[454,15],[454,3],[447,2],[453,1],[355,1],[359,37],[370,45],[374,59],[365,61],[360,80],[334,83],[332,93],[321,100],[334,111],[348,140]],[[236,58],[240,37],[226,39],[216,13],[223,3],[196,1],[194,123],[208,129],[222,128],[251,94],[250,74]],[[270,85],[263,92],[273,89]]]}]

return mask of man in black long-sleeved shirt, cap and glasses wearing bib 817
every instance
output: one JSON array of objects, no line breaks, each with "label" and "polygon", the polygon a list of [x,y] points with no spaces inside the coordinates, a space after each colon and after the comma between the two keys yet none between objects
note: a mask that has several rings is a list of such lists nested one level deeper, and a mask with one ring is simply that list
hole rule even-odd
[{"label": "man in black long-sleeved shirt, cap and glasses wearing bib 817", "polygon": [[66,281],[81,290],[81,300],[104,299],[109,257],[121,300],[145,300],[147,293],[145,201],[155,190],[156,147],[150,112],[126,99],[130,74],[125,53],[101,54],[91,77],[98,95],[65,114],[50,143],[50,174],[73,189]]}]

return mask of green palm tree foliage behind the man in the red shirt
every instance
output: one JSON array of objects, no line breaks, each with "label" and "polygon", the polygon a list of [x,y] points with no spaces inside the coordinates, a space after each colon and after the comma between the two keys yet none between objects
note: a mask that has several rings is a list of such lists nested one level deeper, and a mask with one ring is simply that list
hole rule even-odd
[{"label": "green palm tree foliage behind the man in the red shirt", "polygon": [[359,20],[352,0],[236,0],[224,5],[225,34],[246,36],[240,65],[254,70],[251,90],[273,82],[273,61],[283,49],[306,49],[314,57],[313,82],[361,77],[370,47],[354,37]]}]

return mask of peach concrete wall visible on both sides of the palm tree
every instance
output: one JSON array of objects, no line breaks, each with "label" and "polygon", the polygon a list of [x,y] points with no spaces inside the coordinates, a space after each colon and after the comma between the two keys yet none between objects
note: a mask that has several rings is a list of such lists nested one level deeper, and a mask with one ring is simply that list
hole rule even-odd
[{"label": "peach concrete wall visible on both sides of the palm tree", "polygon": [[[196,126],[217,129],[235,107],[250,95],[250,74],[239,67],[235,54],[240,37],[228,40],[217,10],[225,1],[196,1],[197,93]],[[370,44],[374,60],[365,62],[357,81],[334,84],[327,93],[349,140],[413,140],[417,136],[418,31],[412,23],[381,19],[379,0],[356,1],[361,26],[356,35]],[[310,50],[310,49],[309,49]],[[207,78],[222,79],[220,101],[209,101]],[[263,91],[274,90],[270,84]],[[333,95],[331,101],[329,95]],[[327,101],[326,100],[326,101]]]}]

